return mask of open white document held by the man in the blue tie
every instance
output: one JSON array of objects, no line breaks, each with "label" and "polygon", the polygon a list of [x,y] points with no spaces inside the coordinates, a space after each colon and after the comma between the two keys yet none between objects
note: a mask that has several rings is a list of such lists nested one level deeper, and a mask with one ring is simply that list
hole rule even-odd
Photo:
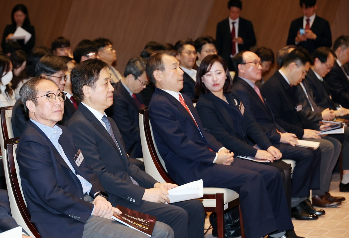
[{"label": "open white document held by the man in the blue tie", "polygon": [[202,179],[200,179],[170,189],[168,192],[169,195],[167,195],[167,197],[170,199],[171,203],[201,198],[203,196],[203,182]]}]

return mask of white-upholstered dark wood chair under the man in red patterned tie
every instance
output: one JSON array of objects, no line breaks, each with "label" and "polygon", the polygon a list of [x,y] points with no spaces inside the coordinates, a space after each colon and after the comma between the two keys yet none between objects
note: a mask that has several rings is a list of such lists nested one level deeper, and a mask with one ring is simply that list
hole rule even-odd
[{"label": "white-upholstered dark wood chair under the man in red patterned tie", "polygon": [[[141,108],[139,114],[139,129],[141,135],[144,167],[146,172],[153,176],[160,183],[175,183],[168,175],[165,163],[159,154],[151,124],[149,122],[149,111]],[[217,214],[217,235],[224,237],[224,210],[239,204],[239,194],[230,189],[217,187],[204,187],[204,196],[200,199],[205,207],[205,212],[215,212]],[[242,237],[245,237],[242,214],[240,209],[240,226]]]}]

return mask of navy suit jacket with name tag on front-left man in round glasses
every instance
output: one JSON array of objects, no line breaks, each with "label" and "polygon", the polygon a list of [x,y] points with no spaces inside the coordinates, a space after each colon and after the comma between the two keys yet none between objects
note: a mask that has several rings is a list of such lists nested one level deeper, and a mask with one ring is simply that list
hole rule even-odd
[{"label": "navy suit jacket with name tag on front-left man in round glasses", "polygon": [[[59,144],[76,174],[92,184],[91,197],[104,191],[97,175],[82,161],[73,160],[77,150],[73,137],[64,126]],[[84,153],[86,154],[86,153]],[[94,205],[85,201],[81,183],[70,170],[49,138],[33,122],[28,121],[16,149],[22,189],[27,207],[42,237],[69,234],[82,237],[84,224]]]}]

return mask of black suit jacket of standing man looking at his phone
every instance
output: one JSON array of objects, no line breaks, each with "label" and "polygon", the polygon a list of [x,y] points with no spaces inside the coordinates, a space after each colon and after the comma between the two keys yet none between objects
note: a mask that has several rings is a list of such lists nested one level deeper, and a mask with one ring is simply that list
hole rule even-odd
[{"label": "black suit jacket of standing man looking at his phone", "polygon": [[[303,28],[303,16],[293,20],[290,25],[290,29],[287,37],[287,45],[295,45],[295,38],[299,28]],[[315,49],[321,46],[331,47],[332,45],[332,36],[329,23],[326,19],[315,16],[314,22],[310,28],[314,34],[316,34],[316,39],[307,39],[306,41],[299,42],[298,46],[302,46],[307,49],[309,53],[313,53]]]}]

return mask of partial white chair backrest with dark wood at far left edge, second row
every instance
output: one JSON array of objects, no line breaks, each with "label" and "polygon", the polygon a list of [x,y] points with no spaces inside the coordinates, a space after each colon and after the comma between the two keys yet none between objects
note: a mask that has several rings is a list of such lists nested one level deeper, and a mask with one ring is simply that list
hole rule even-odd
[{"label": "partial white chair backrest with dark wood at far left edge, second row", "polygon": [[0,146],[1,151],[4,149],[4,141],[13,138],[11,115],[13,106],[1,107],[0,118],[1,118],[1,135],[0,135]]}]

